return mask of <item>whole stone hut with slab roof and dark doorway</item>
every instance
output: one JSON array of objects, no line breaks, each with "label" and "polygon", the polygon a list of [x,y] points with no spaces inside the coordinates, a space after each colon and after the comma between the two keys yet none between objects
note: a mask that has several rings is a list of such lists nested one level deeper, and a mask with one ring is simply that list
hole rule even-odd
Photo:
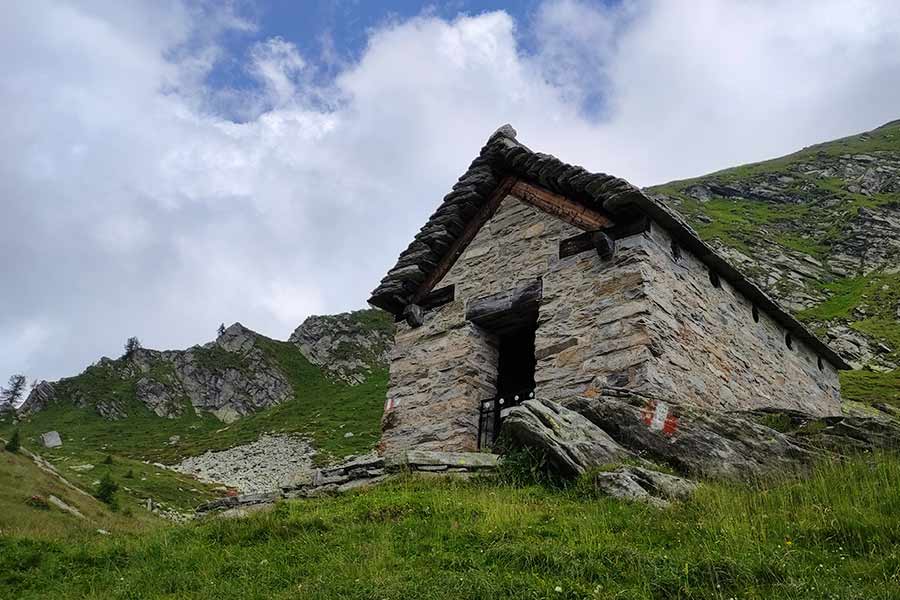
[{"label": "whole stone hut with slab roof and dark doorway", "polygon": [[849,368],[678,214],[508,125],[369,303],[398,320],[386,454],[488,448],[516,403],[607,388],[840,414]]}]

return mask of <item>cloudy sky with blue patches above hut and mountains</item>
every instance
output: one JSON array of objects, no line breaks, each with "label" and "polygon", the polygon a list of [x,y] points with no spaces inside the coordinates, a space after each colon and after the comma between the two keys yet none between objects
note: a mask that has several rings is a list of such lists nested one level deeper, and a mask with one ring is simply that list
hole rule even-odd
[{"label": "cloudy sky with blue patches above hut and mountains", "polygon": [[56,379],[364,307],[504,123],[651,185],[900,118],[900,3],[29,0],[0,67],[0,379]]}]

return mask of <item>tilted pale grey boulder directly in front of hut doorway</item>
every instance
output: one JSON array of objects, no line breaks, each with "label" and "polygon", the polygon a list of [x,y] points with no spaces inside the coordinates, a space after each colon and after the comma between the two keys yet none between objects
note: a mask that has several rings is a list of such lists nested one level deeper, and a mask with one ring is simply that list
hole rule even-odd
[{"label": "tilted pale grey boulder directly in front of hut doorway", "polygon": [[549,400],[513,407],[503,430],[520,444],[543,451],[564,477],[635,457],[588,419]]}]

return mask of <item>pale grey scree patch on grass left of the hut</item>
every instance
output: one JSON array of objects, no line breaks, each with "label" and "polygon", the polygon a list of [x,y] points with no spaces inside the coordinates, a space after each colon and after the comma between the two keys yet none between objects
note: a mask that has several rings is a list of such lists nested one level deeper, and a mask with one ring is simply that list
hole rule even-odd
[{"label": "pale grey scree patch on grass left of the hut", "polygon": [[270,492],[286,481],[311,474],[315,454],[300,436],[263,435],[250,444],[186,458],[171,468],[241,492]]}]

